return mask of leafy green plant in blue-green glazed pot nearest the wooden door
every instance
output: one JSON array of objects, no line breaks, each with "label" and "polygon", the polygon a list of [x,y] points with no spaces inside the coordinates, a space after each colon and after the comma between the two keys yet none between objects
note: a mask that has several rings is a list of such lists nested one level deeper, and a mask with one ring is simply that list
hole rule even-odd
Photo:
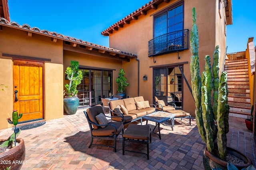
[{"label": "leafy green plant in blue-green glazed pot nearest the wooden door", "polygon": [[67,74],[67,83],[64,87],[66,88],[64,95],[64,109],[68,115],[74,115],[79,106],[79,99],[76,96],[78,90],[76,89],[83,79],[82,71],[79,70],[78,61],[70,61],[70,67],[67,67],[65,73]]}]

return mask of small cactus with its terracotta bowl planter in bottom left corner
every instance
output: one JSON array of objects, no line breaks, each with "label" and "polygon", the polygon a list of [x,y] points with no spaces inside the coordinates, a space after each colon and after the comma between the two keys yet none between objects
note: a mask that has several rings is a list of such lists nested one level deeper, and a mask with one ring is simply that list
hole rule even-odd
[{"label": "small cactus with its terracotta bowl planter in bottom left corner", "polygon": [[12,112],[12,121],[8,118],[8,123],[14,125],[14,133],[7,140],[0,140],[0,169],[19,170],[24,164],[26,149],[22,138],[17,138],[20,134],[20,128],[16,127],[18,119],[22,117],[22,113],[18,115],[17,110]]}]

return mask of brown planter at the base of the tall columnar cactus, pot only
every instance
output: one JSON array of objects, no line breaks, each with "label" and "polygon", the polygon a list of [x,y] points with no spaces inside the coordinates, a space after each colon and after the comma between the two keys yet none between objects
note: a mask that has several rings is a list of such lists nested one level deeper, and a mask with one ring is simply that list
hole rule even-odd
[{"label": "brown planter at the base of the tall columnar cactus, pot only", "polygon": [[[250,159],[247,156],[245,156],[244,154],[242,154],[241,152],[239,152],[238,150],[227,147],[227,152],[234,156],[237,156],[238,158],[242,159],[246,163],[244,165],[234,164],[236,166],[236,168],[238,168],[239,170],[242,168],[246,168],[252,164]],[[222,170],[227,170],[227,165],[228,165],[228,162],[221,160],[221,159],[217,158],[216,156],[212,155],[207,150],[207,148],[204,149],[203,163],[204,163],[205,170],[212,170],[212,168],[216,169],[217,167],[221,168]]]}]

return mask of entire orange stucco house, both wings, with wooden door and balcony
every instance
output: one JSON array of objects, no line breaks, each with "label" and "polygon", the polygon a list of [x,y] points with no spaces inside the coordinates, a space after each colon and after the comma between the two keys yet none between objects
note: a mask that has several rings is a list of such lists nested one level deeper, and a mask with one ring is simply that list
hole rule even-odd
[{"label": "entire orange stucco house, both wings, with wooden door and balcony", "polygon": [[[232,24],[231,0],[152,0],[102,32],[110,47],[78,40],[48,30],[11,22],[8,0],[0,1],[0,116],[23,113],[21,123],[63,117],[65,69],[79,61],[84,79],[78,86],[80,108],[101,103],[117,91],[123,68],[130,85],[126,94],[154,95],[180,102],[194,115],[190,85],[190,30],[196,7],[200,63],[220,45],[225,58],[226,25]],[[188,85],[185,83],[185,78]],[[176,99],[178,96],[178,99]],[[0,120],[0,129],[10,127]]]}]

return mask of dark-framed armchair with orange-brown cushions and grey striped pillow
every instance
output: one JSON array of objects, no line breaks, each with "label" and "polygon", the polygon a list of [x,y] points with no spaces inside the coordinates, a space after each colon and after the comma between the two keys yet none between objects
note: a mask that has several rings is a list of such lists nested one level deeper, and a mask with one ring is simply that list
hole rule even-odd
[{"label": "dark-framed armchair with orange-brown cushions and grey striped pillow", "polygon": [[86,119],[88,121],[90,132],[91,132],[91,142],[88,148],[92,146],[94,138],[104,139],[104,140],[114,140],[114,146],[94,144],[100,146],[107,146],[114,148],[116,152],[116,138],[122,132],[124,133],[124,125],[122,122],[108,122],[106,115],[104,115],[101,105],[96,105],[90,107],[84,111]]}]

